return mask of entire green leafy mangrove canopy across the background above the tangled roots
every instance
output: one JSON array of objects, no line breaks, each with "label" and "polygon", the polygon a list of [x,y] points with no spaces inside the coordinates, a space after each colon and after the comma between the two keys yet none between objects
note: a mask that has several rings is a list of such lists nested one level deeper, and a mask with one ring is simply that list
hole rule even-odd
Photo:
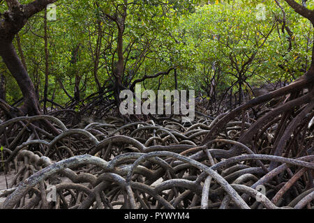
[{"label": "entire green leafy mangrove canopy across the background above the tangled roots", "polygon": [[[59,82],[73,96],[75,78],[80,78],[81,98],[95,93],[95,67],[100,84],[112,82],[118,29],[106,14],[119,14],[124,3],[128,8],[123,36],[126,87],[144,75],[175,67],[179,89],[204,93],[214,78],[222,92],[241,79],[249,84],[291,81],[310,66],[312,26],[286,3],[287,26],[293,33],[291,47],[290,36],[282,32],[283,23],[278,20],[282,20],[281,9],[274,1],[61,0],[56,2],[57,21],[48,22],[48,98],[65,105],[69,98]],[[257,20],[258,3],[266,8],[265,20]],[[314,4],[308,3],[308,8]],[[0,6],[3,10],[5,4]],[[19,33],[27,70],[40,99],[45,83],[43,15],[32,17]],[[0,71],[6,75],[6,99],[9,103],[19,100],[22,95],[2,63]],[[144,87],[174,89],[173,71],[145,80]]]}]

